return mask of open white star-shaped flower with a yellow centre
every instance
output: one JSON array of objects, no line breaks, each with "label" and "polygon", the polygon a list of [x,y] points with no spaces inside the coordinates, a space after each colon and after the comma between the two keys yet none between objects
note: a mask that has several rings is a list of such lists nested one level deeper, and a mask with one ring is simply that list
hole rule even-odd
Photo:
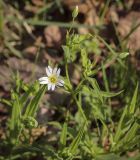
[{"label": "open white star-shaped flower with a yellow centre", "polygon": [[47,84],[48,90],[54,90],[55,86],[63,86],[64,81],[62,79],[59,79],[60,75],[60,68],[54,68],[52,69],[50,66],[46,67],[46,73],[47,77],[41,77],[39,78],[40,84]]}]

